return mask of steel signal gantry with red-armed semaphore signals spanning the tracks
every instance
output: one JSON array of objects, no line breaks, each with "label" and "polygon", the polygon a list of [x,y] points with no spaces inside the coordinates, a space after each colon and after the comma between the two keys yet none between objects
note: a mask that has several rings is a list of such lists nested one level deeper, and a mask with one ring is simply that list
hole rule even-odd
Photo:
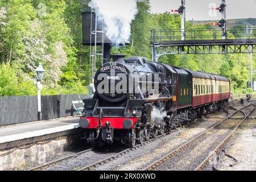
[{"label": "steel signal gantry with red-armed semaphore signals spanning the tracks", "polygon": [[[151,31],[152,60],[158,61],[162,55],[209,54],[209,53],[256,53],[255,28],[248,32],[245,28],[226,28],[226,2],[221,0],[215,7],[222,19],[212,25],[220,28],[185,28],[185,0],[181,0],[178,10],[181,29]],[[181,35],[180,35],[181,32]]]}]

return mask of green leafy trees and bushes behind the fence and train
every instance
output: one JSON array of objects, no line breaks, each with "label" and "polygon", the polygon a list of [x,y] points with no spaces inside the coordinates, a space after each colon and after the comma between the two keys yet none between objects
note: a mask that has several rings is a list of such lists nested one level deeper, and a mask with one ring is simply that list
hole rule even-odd
[{"label": "green leafy trees and bushes behind the fence and train", "polygon": [[[131,24],[131,45],[112,52],[151,59],[151,29],[180,28],[179,15],[150,14],[149,0],[138,3]],[[0,1],[0,96],[34,95],[34,69],[43,63],[42,94],[86,93],[89,47],[81,45],[81,5],[73,0]],[[188,28],[209,24],[187,22]],[[249,55],[166,55],[162,63],[217,73],[232,82],[233,94],[247,93]],[[254,56],[255,68],[255,56]],[[256,77],[254,75],[256,80]]]}]

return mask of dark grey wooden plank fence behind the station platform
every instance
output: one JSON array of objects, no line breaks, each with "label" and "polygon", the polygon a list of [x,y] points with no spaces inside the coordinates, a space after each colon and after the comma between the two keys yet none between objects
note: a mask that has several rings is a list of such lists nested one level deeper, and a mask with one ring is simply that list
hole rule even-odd
[{"label": "dark grey wooden plank fence behind the station platform", "polygon": [[[73,115],[72,101],[87,98],[80,95],[42,96],[42,119]],[[37,96],[0,97],[0,126],[38,120]]]}]

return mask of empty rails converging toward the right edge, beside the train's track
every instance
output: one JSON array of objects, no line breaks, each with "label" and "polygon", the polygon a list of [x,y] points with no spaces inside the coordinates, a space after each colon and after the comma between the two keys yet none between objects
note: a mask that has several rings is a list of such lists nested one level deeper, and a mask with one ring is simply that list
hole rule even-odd
[{"label": "empty rails converging toward the right edge, beside the train's track", "polygon": [[[245,111],[243,111],[243,109],[246,109],[246,107],[252,107],[248,113],[245,113]],[[159,159],[156,162],[153,162],[151,164],[149,164],[146,168],[144,168],[143,170],[177,170],[177,169],[187,169],[187,170],[199,170],[199,169],[203,169],[205,167],[205,165],[209,162],[210,157],[215,154],[215,152],[219,151],[221,149],[221,147],[228,141],[228,139],[230,139],[230,137],[232,137],[233,133],[237,130],[237,128],[241,125],[241,123],[243,121],[245,121],[245,119],[250,115],[250,113],[255,110],[255,105],[251,104],[251,105],[247,105],[247,106],[243,106],[240,109],[237,109],[236,111],[234,111],[232,114],[229,114],[228,117],[226,117],[225,119],[223,119],[221,122],[217,123],[216,125],[214,125],[213,127],[211,127],[209,130],[205,131],[204,133],[198,135],[197,137],[189,140],[187,143],[183,144],[181,147],[176,148],[176,150],[171,151],[169,154],[167,154],[166,156],[164,156],[163,158]],[[217,143],[218,146],[216,146],[216,148],[213,148],[213,150],[208,150],[210,151],[210,154],[208,154],[207,152],[203,155],[206,156],[206,158],[199,163],[199,165],[197,166],[196,164],[198,162],[200,162],[200,158],[197,159],[191,157],[191,159],[188,159],[189,156],[193,156],[189,154],[189,151],[191,151],[191,146],[196,147],[197,145],[200,146],[200,141],[202,143],[203,140],[212,137],[212,135],[215,135],[216,133],[213,133],[213,130],[218,131],[218,130],[225,130],[226,127],[224,125],[224,123],[230,124],[228,121],[233,117],[233,115],[235,115],[236,113],[241,112],[243,113],[243,117],[238,121],[232,123],[231,125],[231,130],[230,132],[224,133],[225,137],[221,137],[221,135],[217,135],[215,138],[217,139]],[[222,127],[220,127],[222,125]],[[218,128],[219,127],[219,128]],[[230,126],[229,126],[230,127]],[[218,129],[216,129],[218,128]],[[222,134],[223,135],[223,134]],[[222,139],[221,139],[222,138]],[[203,140],[202,140],[203,139]],[[212,139],[211,139],[212,140]],[[215,141],[215,140],[214,140]],[[212,143],[212,142],[209,142]],[[213,144],[213,143],[212,143]],[[201,149],[204,148],[203,146],[200,147]],[[208,148],[207,148],[208,149]],[[203,154],[203,151],[201,151]],[[197,155],[202,155],[202,154],[197,154]],[[195,154],[194,154],[195,155]],[[204,158],[204,157],[203,157]],[[184,160],[184,161],[183,161]],[[185,162],[186,161],[190,161],[189,163],[187,163],[187,166],[185,166]],[[179,164],[183,164],[180,165]],[[191,166],[189,168],[189,166]]]}]

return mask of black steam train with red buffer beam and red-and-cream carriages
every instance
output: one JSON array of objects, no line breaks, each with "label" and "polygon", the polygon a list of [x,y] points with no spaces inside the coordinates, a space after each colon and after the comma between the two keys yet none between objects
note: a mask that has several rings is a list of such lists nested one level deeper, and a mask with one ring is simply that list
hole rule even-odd
[{"label": "black steam train with red buffer beam and red-and-cream carriages", "polygon": [[112,55],[94,77],[80,127],[93,147],[120,141],[129,147],[228,105],[226,77]]}]

